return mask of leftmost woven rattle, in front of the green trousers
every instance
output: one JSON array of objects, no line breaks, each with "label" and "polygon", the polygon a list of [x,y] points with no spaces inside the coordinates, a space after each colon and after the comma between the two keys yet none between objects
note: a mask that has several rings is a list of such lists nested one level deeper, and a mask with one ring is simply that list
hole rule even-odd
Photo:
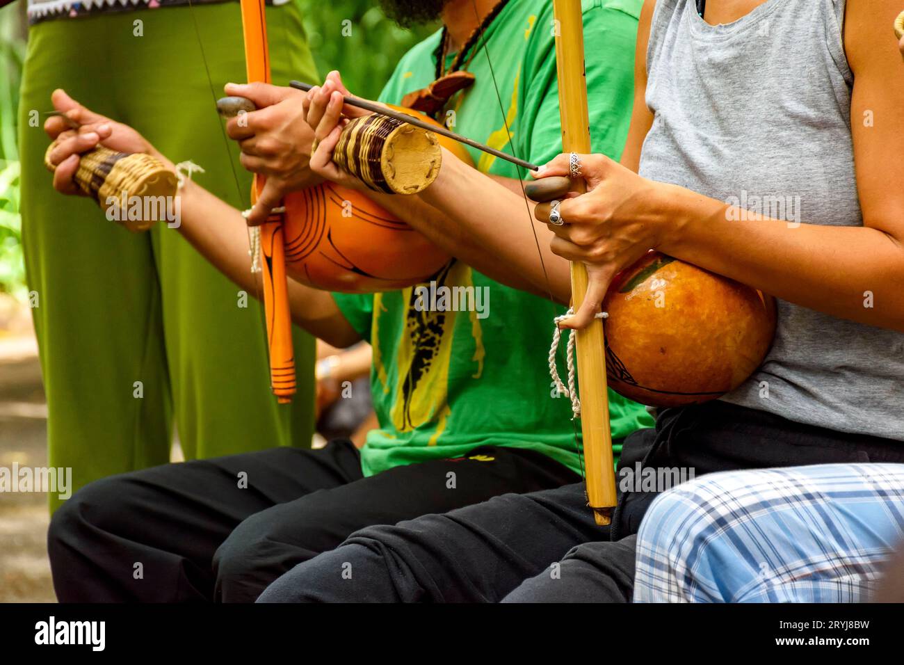
[{"label": "leftmost woven rattle, in front of the green trousers", "polygon": [[[52,143],[44,154],[44,165],[51,172],[56,170],[50,161],[55,145]],[[167,219],[178,189],[176,175],[156,157],[144,153],[129,155],[108,147],[96,147],[80,156],[75,182],[108,217],[133,233],[146,231]],[[123,201],[127,210],[121,209]],[[139,218],[131,219],[136,202],[140,204]]]}]

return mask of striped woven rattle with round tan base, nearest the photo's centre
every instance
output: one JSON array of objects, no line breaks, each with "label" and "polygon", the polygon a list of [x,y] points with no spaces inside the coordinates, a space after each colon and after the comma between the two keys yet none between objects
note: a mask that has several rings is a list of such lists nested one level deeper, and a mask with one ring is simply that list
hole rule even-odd
[{"label": "striped woven rattle with round tan base, nearest the photo's centre", "polygon": [[431,131],[373,114],[345,126],[333,161],[376,192],[418,194],[437,179],[442,148]]}]

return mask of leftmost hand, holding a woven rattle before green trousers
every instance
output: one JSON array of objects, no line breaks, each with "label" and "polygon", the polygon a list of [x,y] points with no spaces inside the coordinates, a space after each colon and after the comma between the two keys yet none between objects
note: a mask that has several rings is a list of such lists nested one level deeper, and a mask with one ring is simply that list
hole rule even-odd
[{"label": "leftmost hand, holding a woven rattle before green trousers", "polygon": [[[153,155],[165,165],[173,167],[163,155],[148,143],[135,129],[121,122],[101,116],[86,109],[63,90],[53,90],[53,108],[66,118],[51,116],[44,122],[44,131],[53,139],[49,161],[55,166],[53,188],[62,194],[83,195],[73,176],[79,168],[80,155],[104,145],[111,150],[125,153],[144,152]],[[78,128],[73,128],[73,123]]]}]

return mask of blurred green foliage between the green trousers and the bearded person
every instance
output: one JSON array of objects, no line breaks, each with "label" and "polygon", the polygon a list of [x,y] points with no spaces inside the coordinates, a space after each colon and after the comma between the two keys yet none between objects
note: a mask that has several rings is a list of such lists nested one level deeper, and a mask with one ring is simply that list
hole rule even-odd
[{"label": "blurred green foliage between the green trousers and the bearded person", "polygon": [[402,54],[438,26],[403,30],[377,0],[297,0],[317,70],[339,70],[349,90],[376,99]]}]

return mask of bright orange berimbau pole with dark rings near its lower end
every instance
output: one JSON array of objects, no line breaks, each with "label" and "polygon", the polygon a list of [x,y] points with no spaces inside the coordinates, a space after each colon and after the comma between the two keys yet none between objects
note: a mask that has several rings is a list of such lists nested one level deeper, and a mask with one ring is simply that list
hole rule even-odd
[{"label": "bright orange berimbau pole with dark rings near its lower end", "polygon": [[[270,61],[264,0],[240,0],[240,5],[248,82],[269,83]],[[255,203],[263,188],[264,178],[255,174],[251,187],[251,204]],[[270,387],[277,396],[278,403],[287,404],[296,392],[296,376],[282,217],[282,214],[271,214],[268,222],[260,226],[260,265],[267,318]]]}]

